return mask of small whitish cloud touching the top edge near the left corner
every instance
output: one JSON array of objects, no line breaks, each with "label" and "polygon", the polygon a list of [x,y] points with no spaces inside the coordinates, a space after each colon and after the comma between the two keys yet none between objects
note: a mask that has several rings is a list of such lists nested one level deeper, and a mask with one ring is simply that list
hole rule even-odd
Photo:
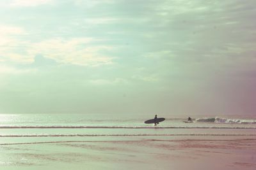
[{"label": "small whitish cloud touching the top edge near the left corner", "polygon": [[10,3],[11,6],[38,6],[49,4],[52,0],[14,0]]}]

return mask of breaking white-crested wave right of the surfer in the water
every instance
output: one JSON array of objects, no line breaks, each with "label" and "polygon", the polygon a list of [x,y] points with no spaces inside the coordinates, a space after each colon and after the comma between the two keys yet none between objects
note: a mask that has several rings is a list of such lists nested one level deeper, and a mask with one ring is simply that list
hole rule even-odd
[{"label": "breaking white-crested wave right of the surfer in the water", "polygon": [[198,118],[195,122],[213,122],[222,124],[256,124],[256,120],[246,120],[246,119],[229,119],[229,118]]}]

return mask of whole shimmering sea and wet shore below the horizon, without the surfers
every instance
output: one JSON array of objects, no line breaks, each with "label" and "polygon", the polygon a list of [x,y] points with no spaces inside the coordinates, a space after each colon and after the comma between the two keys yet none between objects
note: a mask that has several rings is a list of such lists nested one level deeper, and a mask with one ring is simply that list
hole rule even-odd
[{"label": "whole shimmering sea and wet shore below the horizon, without the surfers", "polygon": [[0,169],[256,168],[253,116],[150,116],[2,114]]}]

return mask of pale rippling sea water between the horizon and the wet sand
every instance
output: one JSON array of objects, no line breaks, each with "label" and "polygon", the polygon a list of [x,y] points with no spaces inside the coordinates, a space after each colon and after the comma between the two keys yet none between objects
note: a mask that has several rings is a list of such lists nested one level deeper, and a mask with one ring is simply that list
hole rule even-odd
[{"label": "pale rippling sea water between the horizon and the wet sand", "polygon": [[[256,119],[166,117],[159,125],[144,124],[148,117],[113,114],[16,114],[0,115],[0,137],[76,137],[76,136],[254,136]],[[0,144],[4,144],[1,142]]]}]

